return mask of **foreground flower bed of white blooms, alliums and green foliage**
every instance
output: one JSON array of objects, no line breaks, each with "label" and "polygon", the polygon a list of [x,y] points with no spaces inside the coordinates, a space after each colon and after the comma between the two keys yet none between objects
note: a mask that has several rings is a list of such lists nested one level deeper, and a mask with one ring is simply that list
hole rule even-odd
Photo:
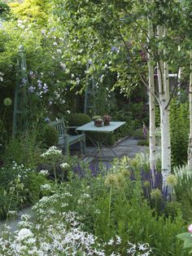
[{"label": "foreground flower bed of white blooms, alliums and green foliage", "polygon": [[[53,147],[41,157],[58,161],[59,155]],[[187,255],[176,237],[189,210],[181,207],[184,178],[169,178],[175,199],[166,202],[159,188],[151,189],[147,157],[116,160],[97,177],[86,166],[83,176],[74,174],[72,161],[61,166],[65,181],[58,183],[55,173],[55,181],[41,186],[34,217],[24,215],[14,234],[8,227],[2,233],[2,255]]]}]

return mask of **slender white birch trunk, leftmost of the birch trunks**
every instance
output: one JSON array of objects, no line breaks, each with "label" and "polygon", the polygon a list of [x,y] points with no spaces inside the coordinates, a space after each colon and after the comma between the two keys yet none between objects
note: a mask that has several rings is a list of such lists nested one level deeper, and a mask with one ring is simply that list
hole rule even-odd
[{"label": "slender white birch trunk, leftmost of the birch trunks", "polygon": [[[148,37],[149,40],[154,37],[153,25],[148,20]],[[152,173],[153,184],[155,188],[155,170],[156,170],[156,145],[155,145],[155,82],[154,82],[154,65],[151,50],[148,52],[148,70],[149,70],[149,111],[150,111],[150,167]]]}]

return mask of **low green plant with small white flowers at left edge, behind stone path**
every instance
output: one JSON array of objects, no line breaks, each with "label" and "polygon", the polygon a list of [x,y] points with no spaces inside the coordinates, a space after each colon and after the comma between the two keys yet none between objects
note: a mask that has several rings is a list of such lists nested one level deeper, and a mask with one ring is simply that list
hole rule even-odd
[{"label": "low green plant with small white flowers at left edge, behind stone path", "polygon": [[11,218],[26,203],[37,202],[46,194],[41,186],[49,183],[45,173],[19,165],[0,168],[0,218]]}]

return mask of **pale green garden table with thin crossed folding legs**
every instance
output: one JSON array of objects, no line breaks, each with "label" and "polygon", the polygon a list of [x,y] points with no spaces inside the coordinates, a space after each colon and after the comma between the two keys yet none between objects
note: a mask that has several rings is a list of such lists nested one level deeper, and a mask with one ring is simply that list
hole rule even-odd
[{"label": "pale green garden table with thin crossed folding legs", "polygon": [[[84,126],[77,127],[76,130],[81,130],[81,131],[94,131],[94,132],[106,132],[107,136],[103,139],[103,141],[98,141],[96,139],[91,138],[89,135],[89,139],[91,140],[92,143],[94,143],[94,146],[96,146],[96,152],[94,154],[94,157],[97,156],[98,152],[102,151],[103,148],[109,148],[111,152],[114,153],[114,155],[117,157],[116,152],[110,147],[104,146],[104,143],[107,141],[109,138],[109,135],[114,132],[116,129],[118,129],[120,126],[123,126],[125,124],[125,121],[110,121],[109,126],[102,126],[102,127],[97,127],[94,126],[94,121],[90,121],[89,123],[85,124]],[[104,153],[103,153],[104,155]]]}]

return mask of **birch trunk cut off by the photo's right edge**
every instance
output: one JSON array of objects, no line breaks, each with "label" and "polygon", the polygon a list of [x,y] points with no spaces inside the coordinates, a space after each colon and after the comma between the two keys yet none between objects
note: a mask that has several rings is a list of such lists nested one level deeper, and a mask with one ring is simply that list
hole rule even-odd
[{"label": "birch trunk cut off by the photo's right edge", "polygon": [[192,50],[190,51],[190,135],[188,144],[188,169],[192,170]]}]

